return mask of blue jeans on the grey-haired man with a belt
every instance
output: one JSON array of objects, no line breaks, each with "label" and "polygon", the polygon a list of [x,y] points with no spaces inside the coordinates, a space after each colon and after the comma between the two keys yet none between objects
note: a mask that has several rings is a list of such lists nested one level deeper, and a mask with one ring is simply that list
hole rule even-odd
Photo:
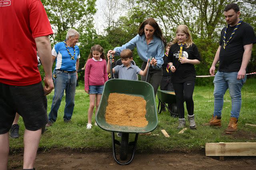
[{"label": "blue jeans on the grey-haired man with a belt", "polygon": [[52,107],[49,113],[49,121],[55,122],[58,115],[58,109],[62,100],[64,90],[66,94],[66,105],[64,109],[64,121],[70,120],[75,106],[76,93],[76,72],[64,73],[55,72],[57,77],[54,80],[54,96],[52,98]]}]

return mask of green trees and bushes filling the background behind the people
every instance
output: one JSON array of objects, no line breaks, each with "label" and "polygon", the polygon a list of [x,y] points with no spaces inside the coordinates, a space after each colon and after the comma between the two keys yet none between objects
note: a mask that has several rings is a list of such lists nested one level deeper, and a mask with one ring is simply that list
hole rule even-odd
[{"label": "green trees and bushes filling the background behind the people", "polygon": [[[95,2],[96,0],[42,0],[55,33],[51,37],[52,45],[63,41],[67,30],[71,27],[80,32],[79,68],[86,63],[93,45],[101,45],[106,54],[108,50],[121,46],[136,36],[140,23],[150,17],[155,18],[159,23],[167,41],[172,41],[176,36],[177,25],[188,25],[193,41],[202,57],[201,63],[195,66],[197,75],[209,75],[209,68],[218,48],[220,31],[226,25],[223,15],[226,4],[238,3],[241,18],[256,30],[255,0],[127,0],[126,16],[121,16],[110,27],[107,27],[104,35],[97,35],[92,18],[96,13]],[[248,73],[254,72],[256,68],[255,47],[256,45],[252,49]],[[139,58],[136,48],[133,50],[133,55],[136,64],[141,66],[142,60]],[[116,59],[118,58],[116,57]],[[40,72],[44,76],[41,68]],[[81,84],[84,74],[80,73],[78,80],[81,81]],[[208,81],[196,79],[196,84],[207,85]]]}]

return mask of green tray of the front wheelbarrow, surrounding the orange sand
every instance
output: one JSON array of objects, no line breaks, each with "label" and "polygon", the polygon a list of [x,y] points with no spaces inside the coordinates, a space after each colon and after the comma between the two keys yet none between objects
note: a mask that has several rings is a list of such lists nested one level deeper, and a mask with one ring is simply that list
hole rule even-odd
[{"label": "green tray of the front wheelbarrow, surrounding the orange sand", "polygon": [[[105,112],[106,107],[108,106],[108,96],[110,93],[127,94],[144,98],[146,100],[146,120],[148,121],[148,125],[145,127],[132,127],[107,123]],[[126,101],[120,101],[121,104],[124,102]],[[158,125],[153,87],[149,83],[143,81],[121,79],[108,80],[104,85],[102,97],[100,99],[100,106],[98,107],[96,115],[96,123],[100,128],[106,131],[123,133],[148,133],[153,131]]]}]

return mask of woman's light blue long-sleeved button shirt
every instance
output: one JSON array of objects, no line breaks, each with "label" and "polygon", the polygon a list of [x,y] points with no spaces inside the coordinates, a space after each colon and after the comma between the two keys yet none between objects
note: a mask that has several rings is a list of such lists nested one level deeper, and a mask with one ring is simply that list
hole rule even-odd
[{"label": "woman's light blue long-sleeved button shirt", "polygon": [[134,49],[137,47],[138,55],[142,61],[147,62],[150,57],[154,57],[157,60],[157,65],[152,66],[155,69],[160,69],[162,64],[164,64],[164,43],[160,38],[153,35],[152,41],[147,45],[145,35],[136,35],[128,43],[122,45],[122,47],[114,48],[117,56],[120,56],[121,51],[124,49]]}]

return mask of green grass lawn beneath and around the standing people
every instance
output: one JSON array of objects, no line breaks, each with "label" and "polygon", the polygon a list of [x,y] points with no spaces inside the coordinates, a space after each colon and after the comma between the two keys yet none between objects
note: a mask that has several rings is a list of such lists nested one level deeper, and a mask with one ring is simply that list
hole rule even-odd
[{"label": "green grass lawn beneath and around the standing people", "polygon": [[[254,76],[254,75],[252,75]],[[213,80],[213,79],[212,79]],[[194,113],[197,123],[196,130],[190,130],[188,123],[183,134],[179,132],[178,118],[170,117],[168,112],[158,114],[158,127],[151,134],[157,135],[139,135],[137,151],[148,152],[150,150],[161,150],[163,152],[171,150],[202,150],[205,143],[209,142],[256,142],[256,127],[245,126],[245,123],[256,124],[256,79],[248,79],[242,88],[242,109],[238,121],[238,132],[233,135],[226,135],[224,129],[228,126],[231,111],[231,99],[229,92],[224,96],[224,108],[222,113],[222,128],[215,129],[204,127],[202,123],[210,120],[213,114],[214,98],[213,86],[196,86],[194,90]],[[48,95],[48,113],[52,104],[53,92]],[[84,85],[76,89],[75,108],[72,116],[72,123],[63,122],[63,111],[65,106],[65,96],[62,99],[58,111],[58,119],[52,127],[48,128],[41,138],[40,149],[48,150],[52,148],[63,149],[93,149],[93,150],[111,150],[111,133],[95,127],[86,129],[87,111],[89,106],[89,96],[84,92]],[[158,100],[156,98],[156,106]],[[185,109],[186,110],[186,109]],[[185,117],[187,112],[185,111]],[[94,123],[95,116],[92,122]],[[24,123],[22,118],[19,120],[20,138],[10,139],[10,149],[20,150],[23,148]],[[161,129],[165,129],[170,138],[164,137]],[[134,134],[130,134],[130,139],[134,139]],[[120,139],[120,138],[117,138]]]}]

